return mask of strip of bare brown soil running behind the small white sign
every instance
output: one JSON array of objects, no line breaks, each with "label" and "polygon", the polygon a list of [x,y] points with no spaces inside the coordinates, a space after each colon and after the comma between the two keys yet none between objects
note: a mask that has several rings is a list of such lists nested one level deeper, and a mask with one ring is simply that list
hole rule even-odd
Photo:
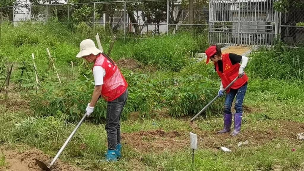
[{"label": "strip of bare brown soil running behind the small white sign", "polygon": [[[269,127],[267,130],[260,129],[242,129],[241,133],[232,137],[230,133],[217,134],[216,131],[200,131],[194,132],[198,135],[198,143],[200,148],[218,149],[225,146],[236,149],[237,144],[241,141],[248,141],[248,146],[265,145],[274,140],[288,139],[293,144],[301,144],[302,140],[297,139],[297,134],[303,132],[304,124],[293,121],[278,121],[277,129]],[[140,152],[161,153],[164,151],[175,152],[182,148],[189,147],[189,132],[164,130],[139,131],[133,133],[122,134],[123,143]]]}]

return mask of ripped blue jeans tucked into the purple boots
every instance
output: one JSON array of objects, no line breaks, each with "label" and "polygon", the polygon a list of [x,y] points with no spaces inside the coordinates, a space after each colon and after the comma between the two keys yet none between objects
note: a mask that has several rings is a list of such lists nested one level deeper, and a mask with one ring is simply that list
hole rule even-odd
[{"label": "ripped blue jeans tucked into the purple boots", "polygon": [[234,109],[236,110],[236,113],[243,113],[243,101],[246,91],[247,83],[241,86],[239,89],[230,89],[230,92],[226,95],[224,113],[231,114],[231,106],[235,96],[237,97],[235,100]]}]

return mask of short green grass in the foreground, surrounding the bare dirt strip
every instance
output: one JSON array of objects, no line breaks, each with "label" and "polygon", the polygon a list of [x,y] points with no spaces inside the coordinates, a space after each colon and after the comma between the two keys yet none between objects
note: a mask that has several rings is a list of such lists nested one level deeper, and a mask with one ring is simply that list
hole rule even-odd
[{"label": "short green grass in the foreground, surrounding the bare dirt strip", "polygon": [[[252,82],[254,82],[253,80]],[[267,84],[268,81],[261,81]],[[251,85],[251,86],[250,86]],[[249,84],[248,93],[244,104],[250,108],[250,113],[245,112],[242,125],[242,132],[260,131],[267,136],[267,131],[279,131],[278,125],[283,120],[297,121],[303,123],[302,111],[303,105],[297,99],[290,98],[286,100],[277,99],[280,94],[273,94],[265,91],[260,92],[251,90],[254,83]],[[290,85],[289,89],[293,89]],[[263,96],[264,99],[260,97]],[[268,100],[275,100],[268,102]],[[267,103],[266,103],[267,102]],[[64,143],[69,133],[74,129],[75,124],[64,124],[64,121],[56,117],[30,119],[26,113],[8,112],[4,106],[0,108],[3,112],[0,119],[1,141],[4,144],[27,144],[37,147],[43,152],[54,156],[57,150]],[[292,112],[290,112],[292,111]],[[285,114],[286,113],[286,114]],[[139,131],[149,131],[163,129],[165,132],[178,131],[184,135],[188,141],[188,133],[192,131],[188,124],[189,117],[174,119],[168,117],[156,117],[151,119],[142,119],[133,117],[132,120],[122,122],[123,133],[134,133]],[[117,163],[105,163],[103,154],[106,151],[106,132],[104,124],[93,124],[86,121],[81,125],[73,140],[64,150],[60,159],[74,164],[83,169],[98,170],[299,170],[303,167],[304,147],[299,141],[291,141],[288,137],[277,135],[274,139],[269,139],[264,143],[254,143],[254,139],[248,137],[250,143],[248,146],[242,145],[237,148],[239,140],[237,138],[228,138],[225,141],[213,139],[215,132],[222,127],[221,116],[209,116],[195,121],[201,131],[207,131],[207,135],[199,133],[200,142],[212,141],[214,148],[208,146],[199,146],[195,151],[195,165],[192,166],[192,150],[185,145],[183,148],[177,148],[176,151],[137,151],[132,145],[123,146],[124,158]],[[5,123],[5,125],[4,125]],[[20,123],[20,124],[16,124]],[[20,129],[22,125],[22,129]],[[52,131],[50,131],[52,130]],[[30,135],[30,136],[29,136]],[[177,140],[179,138],[176,138]],[[145,141],[145,140],[143,140]],[[155,141],[155,139],[147,139]],[[216,144],[223,143],[223,146],[233,150],[232,153],[224,153],[216,149]],[[85,144],[85,149],[81,148]],[[277,145],[280,144],[280,148]],[[292,152],[291,149],[296,151]]]}]

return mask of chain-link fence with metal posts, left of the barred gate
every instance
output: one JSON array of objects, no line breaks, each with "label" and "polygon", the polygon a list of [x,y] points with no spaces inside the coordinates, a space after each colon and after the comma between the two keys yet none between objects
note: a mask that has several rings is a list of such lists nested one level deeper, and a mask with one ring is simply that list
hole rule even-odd
[{"label": "chain-link fence with metal posts, left of the barred gate", "polygon": [[[189,1],[190,2],[190,1]],[[178,31],[208,32],[208,4],[199,1],[144,0],[95,2],[83,4],[43,4],[2,7],[1,21],[86,23],[103,26],[116,36],[143,37]]]}]

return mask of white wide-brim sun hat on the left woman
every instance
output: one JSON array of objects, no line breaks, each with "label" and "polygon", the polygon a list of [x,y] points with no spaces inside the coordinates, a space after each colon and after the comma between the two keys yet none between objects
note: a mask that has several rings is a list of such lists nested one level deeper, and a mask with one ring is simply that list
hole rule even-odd
[{"label": "white wide-brim sun hat on the left woman", "polygon": [[77,58],[87,56],[90,54],[97,55],[102,53],[101,50],[97,49],[95,43],[91,39],[82,40],[80,43],[80,52],[76,55]]}]

